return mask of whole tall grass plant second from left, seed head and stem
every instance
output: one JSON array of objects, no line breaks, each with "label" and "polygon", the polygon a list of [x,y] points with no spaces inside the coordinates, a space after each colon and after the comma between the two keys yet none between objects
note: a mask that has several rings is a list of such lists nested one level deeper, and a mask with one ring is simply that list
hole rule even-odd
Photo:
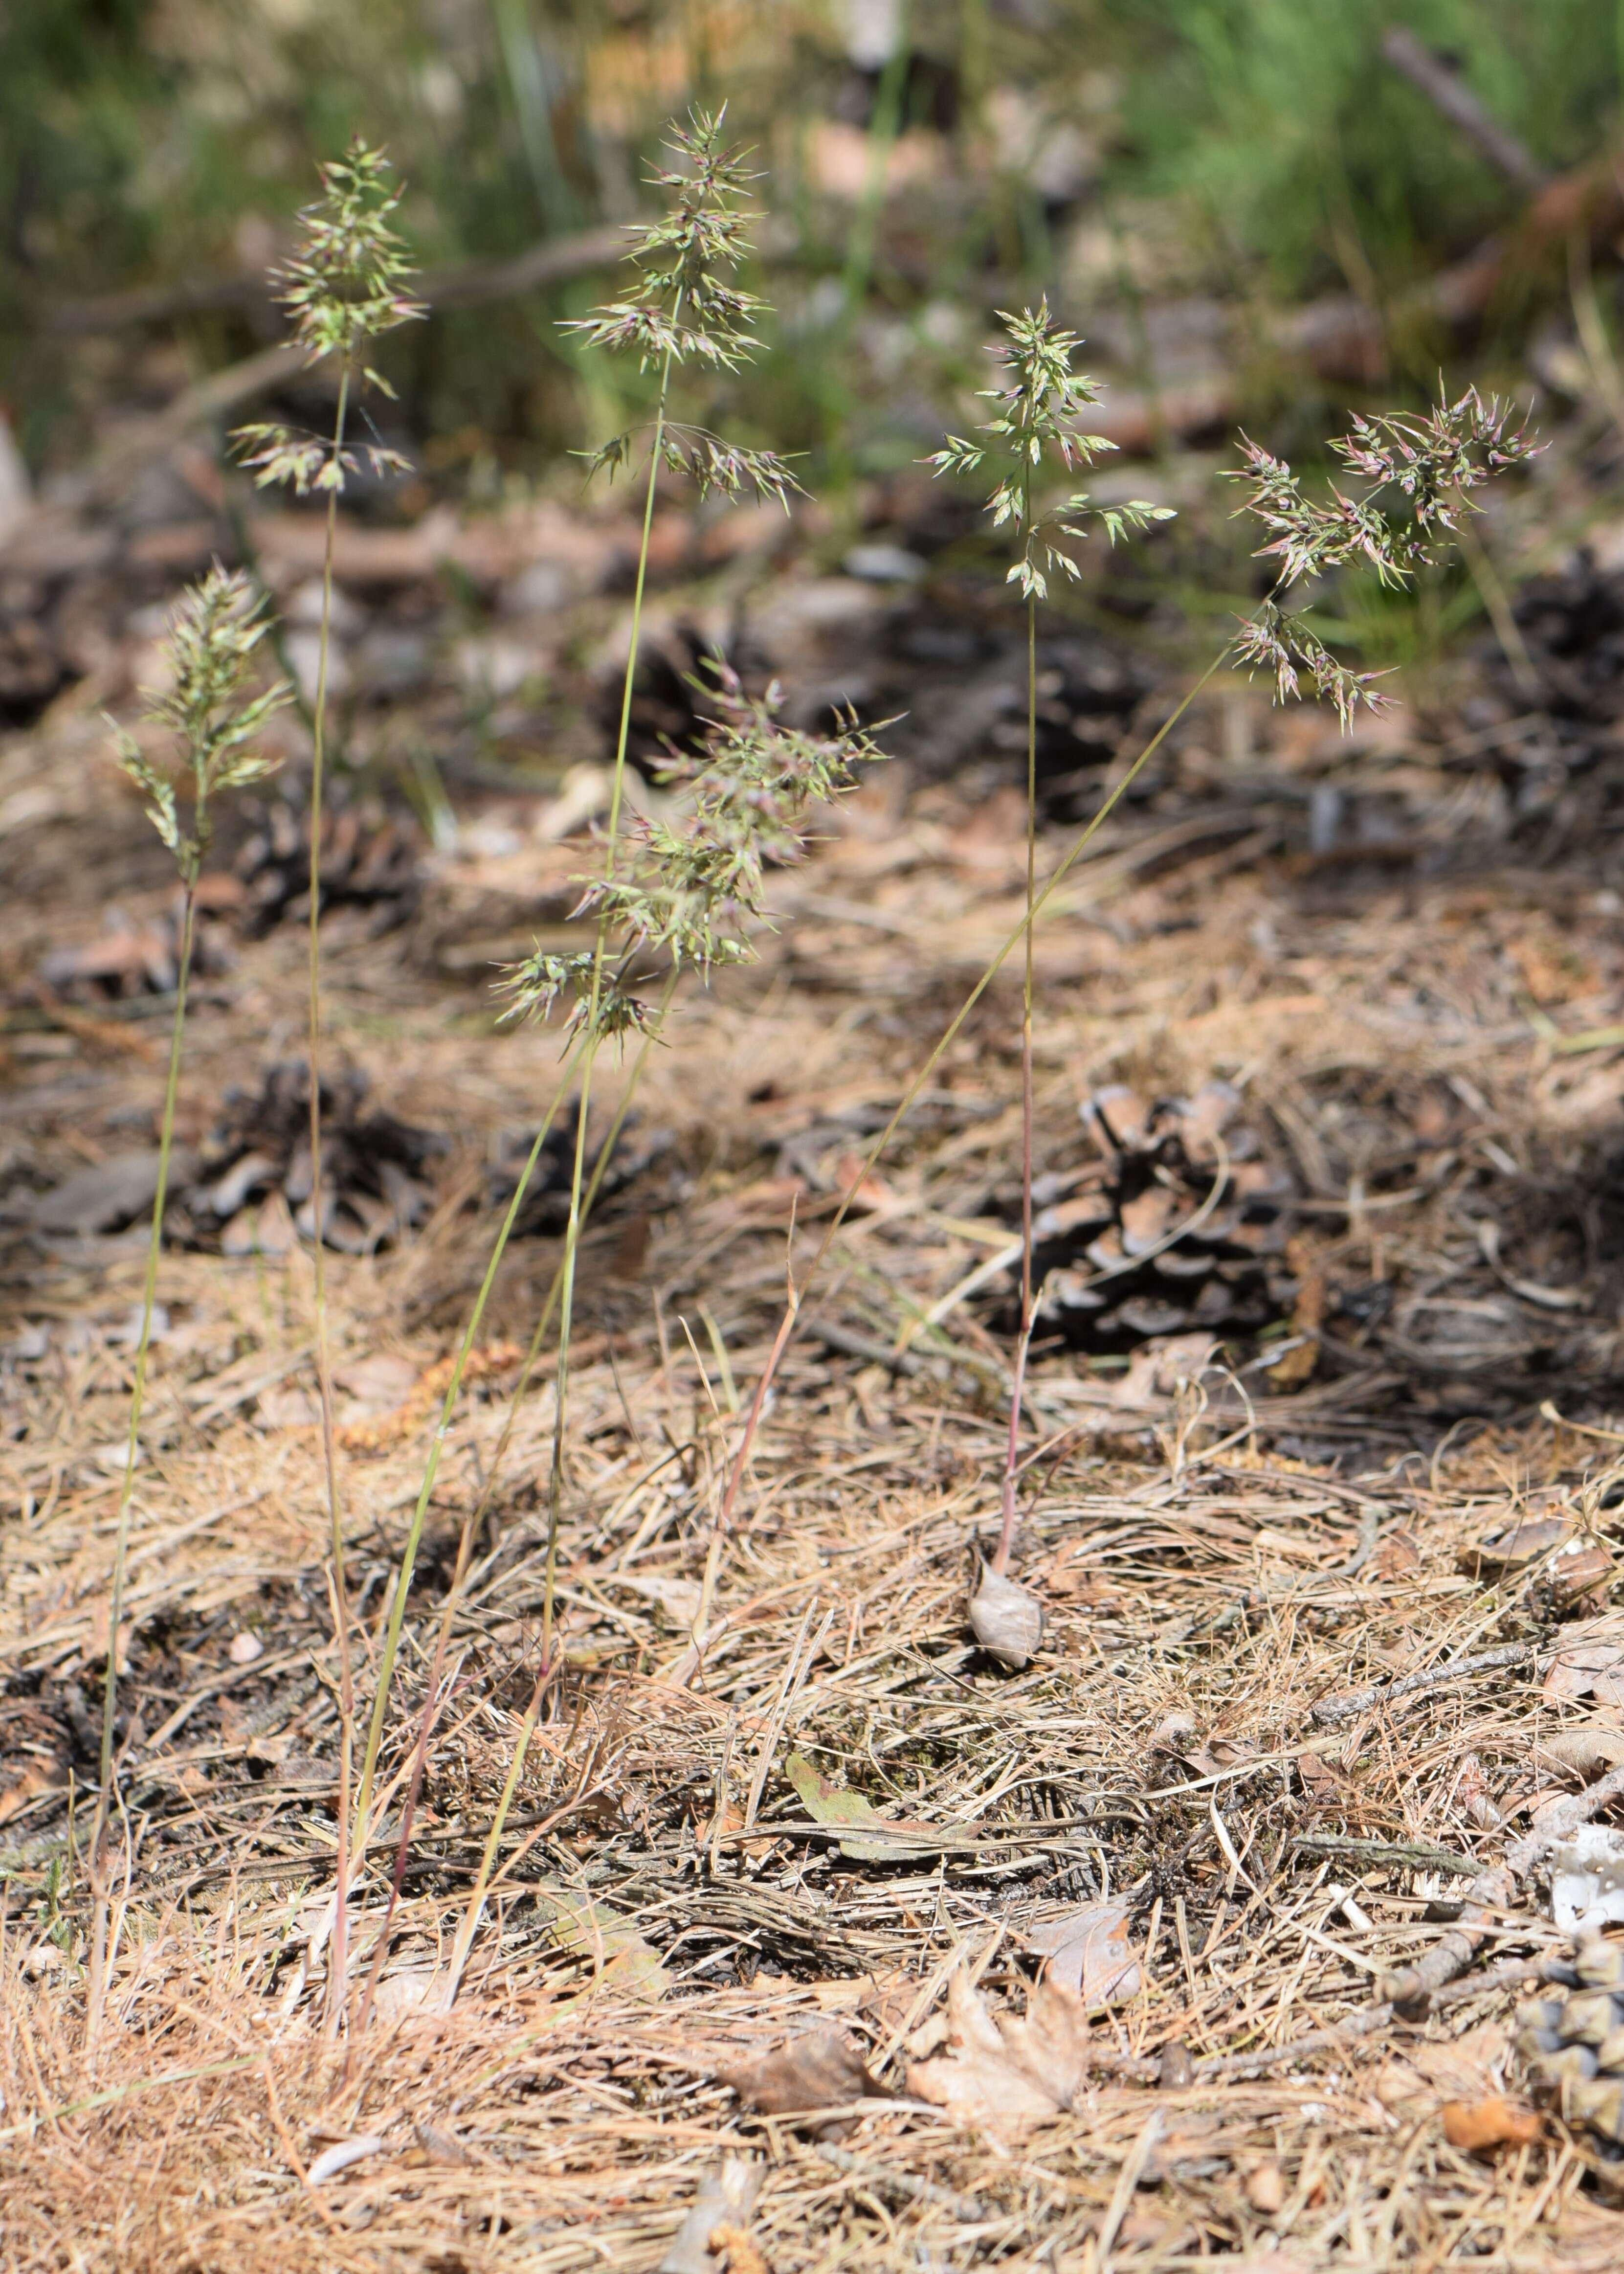
[{"label": "whole tall grass plant second from left, seed head and stem", "polygon": [[309,946],[307,946],[307,1053],[309,1053],[309,1212],[316,1308],[316,1383],[321,1392],[321,1455],[328,1485],[332,1539],[332,1619],[339,1635],[341,1749],[339,1749],[339,1869],[334,1894],[332,1969],[334,1999],[328,2022],[337,2028],[348,1953],[348,1821],[355,1746],[355,1669],[350,1665],[350,1612],[343,1571],[343,1508],[339,1494],[339,1449],[332,1424],[332,1351],[328,1337],[328,1194],[321,1160],[321,814],[328,753],[328,669],[332,657],[332,555],[339,498],[359,471],[400,473],[407,462],[380,441],[357,453],[350,446],[350,409],[368,387],[391,393],[389,382],[364,362],[373,339],[421,314],[407,296],[412,264],[391,214],[400,191],[389,186],[389,159],[359,139],[341,159],[321,168],[321,198],[300,216],[303,234],[280,273],[280,300],[293,318],[293,337],[309,364],[337,364],[339,398],[330,434],[296,434],[284,425],[248,425],[237,434],[243,464],[259,487],[284,487],[296,496],[325,498],[325,543],[321,557],[321,630],[316,648],[316,694],[312,705],[309,762]]}]

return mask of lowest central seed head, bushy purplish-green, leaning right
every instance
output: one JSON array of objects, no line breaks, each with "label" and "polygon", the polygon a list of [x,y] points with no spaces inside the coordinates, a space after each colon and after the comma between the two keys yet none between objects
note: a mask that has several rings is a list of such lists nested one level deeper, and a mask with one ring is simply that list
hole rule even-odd
[{"label": "lowest central seed head, bushy purplish-green, leaning right", "polygon": [[[705,978],[719,964],[751,960],[753,932],[771,926],[767,866],[805,860],[814,810],[848,796],[860,769],[885,755],[855,719],[832,735],[787,728],[776,684],[751,696],[721,662],[712,662],[710,678],[714,714],[703,746],[691,757],[673,750],[664,769],[680,789],[678,819],[639,821],[625,871],[582,878],[575,910],[614,928],[628,951]],[[546,1019],[560,996],[573,996],[571,1032],[591,1026],[605,1039],[646,1026],[644,1005],[619,973],[594,980],[591,953],[537,948],[498,987],[512,998],[505,1019]]]}]

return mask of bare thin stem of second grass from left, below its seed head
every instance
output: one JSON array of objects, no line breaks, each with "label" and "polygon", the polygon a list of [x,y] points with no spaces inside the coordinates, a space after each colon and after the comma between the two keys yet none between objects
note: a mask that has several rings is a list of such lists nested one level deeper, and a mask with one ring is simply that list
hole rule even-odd
[{"label": "bare thin stem of second grass from left, below its seed head", "polygon": [[[332,464],[343,457],[343,428],[350,409],[350,364],[339,375],[339,407],[332,418]],[[328,1248],[325,1189],[321,1173],[321,798],[325,787],[328,744],[328,669],[332,657],[332,555],[339,534],[339,491],[328,493],[328,530],[321,555],[321,632],[316,648],[316,703],[312,716],[309,762],[309,1210],[312,1271],[316,1305],[316,1389],[321,1396],[321,1462],[328,1485],[328,1533],[332,1553],[332,1626],[339,1644],[339,1853],[334,1865],[332,1958],[328,1965],[325,2031],[332,2035],[343,2015],[343,1978],[348,1969],[350,1931],[350,1774],[355,1767],[355,1667],[350,1662],[350,1590],[343,1569],[343,1508],[339,1496],[339,1444],[332,1424],[332,1348],[328,1344]]]}]

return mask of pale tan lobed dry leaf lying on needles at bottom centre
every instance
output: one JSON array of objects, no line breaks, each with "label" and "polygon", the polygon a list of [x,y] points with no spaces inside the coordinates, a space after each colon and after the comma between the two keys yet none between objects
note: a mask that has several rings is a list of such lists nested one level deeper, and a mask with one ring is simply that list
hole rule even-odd
[{"label": "pale tan lobed dry leaf lying on needles at bottom centre", "polygon": [[1083,1999],[1044,1974],[1026,2015],[992,2017],[969,1974],[948,1981],[948,2044],[908,2069],[908,2090],[960,2124],[1024,2131],[1069,2108],[1087,2078],[1089,2026]]}]

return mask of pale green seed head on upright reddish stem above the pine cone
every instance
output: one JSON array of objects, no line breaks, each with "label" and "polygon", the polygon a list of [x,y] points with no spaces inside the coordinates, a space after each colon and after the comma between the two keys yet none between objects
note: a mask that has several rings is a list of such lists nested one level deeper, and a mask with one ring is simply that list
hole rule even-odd
[{"label": "pale green seed head on upright reddish stem above the pine cone", "polygon": [[1044,298],[1035,309],[1019,316],[1001,312],[1005,339],[989,352],[1003,366],[999,387],[983,387],[980,396],[999,405],[996,418],[976,428],[987,434],[987,443],[948,434],[942,450],[926,464],[937,473],[980,473],[992,457],[999,482],[987,498],[994,530],[1010,525],[1019,539],[1019,553],[1005,582],[1021,587],[1024,600],[1049,598],[1049,573],[1060,571],[1080,578],[1080,566],[1064,553],[1058,537],[1087,537],[1089,525],[1103,530],[1115,546],[1130,530],[1146,530],[1155,521],[1171,521],[1167,505],[1151,505],[1146,498],[1130,498],[1126,505],[1094,505],[1087,491],[1071,491],[1046,512],[1037,509],[1037,478],[1049,459],[1067,473],[1076,466],[1092,466],[1117,443],[1103,434],[1085,434],[1078,425],[1083,412],[1099,402],[1099,389],[1085,373],[1071,368],[1071,357],[1083,346],[1076,332],[1067,332],[1049,314]]}]

